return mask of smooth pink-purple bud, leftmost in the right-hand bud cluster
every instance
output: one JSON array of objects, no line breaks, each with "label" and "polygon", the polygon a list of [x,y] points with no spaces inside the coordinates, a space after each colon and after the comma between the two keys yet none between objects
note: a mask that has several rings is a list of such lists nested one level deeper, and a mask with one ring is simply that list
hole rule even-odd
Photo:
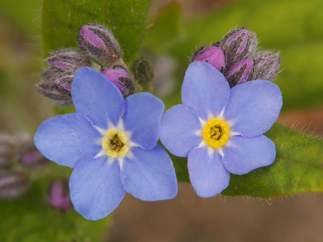
[{"label": "smooth pink-purple bud, leftmost in the right-hand bud cluster", "polygon": [[193,61],[205,61],[210,63],[219,71],[224,71],[225,58],[218,42],[208,47],[205,47],[205,45],[201,46],[197,51],[195,51],[192,58],[192,62]]}]

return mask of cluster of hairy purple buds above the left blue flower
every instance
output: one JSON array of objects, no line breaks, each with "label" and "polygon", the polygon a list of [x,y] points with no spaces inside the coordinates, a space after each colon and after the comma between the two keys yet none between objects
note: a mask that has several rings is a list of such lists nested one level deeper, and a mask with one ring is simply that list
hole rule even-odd
[{"label": "cluster of hairy purple buds above the left blue flower", "polygon": [[[71,90],[75,71],[83,66],[91,66],[90,57],[104,66],[112,65],[121,58],[121,48],[117,40],[104,26],[93,24],[82,26],[78,42],[85,53],[67,48],[56,51],[46,59],[49,67],[43,72],[44,81],[39,83],[37,88],[41,94],[54,100],[54,105],[73,105]],[[120,89],[124,97],[131,95],[134,92],[134,85],[130,75],[123,66],[118,68],[115,66],[107,68],[103,74],[113,72],[114,74],[108,75],[113,80],[109,80]]]}]

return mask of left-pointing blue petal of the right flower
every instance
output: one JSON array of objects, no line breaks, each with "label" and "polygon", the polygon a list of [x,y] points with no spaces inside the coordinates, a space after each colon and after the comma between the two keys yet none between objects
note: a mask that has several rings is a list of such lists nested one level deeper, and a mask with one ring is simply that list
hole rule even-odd
[{"label": "left-pointing blue petal of the right flower", "polygon": [[201,123],[195,110],[183,104],[172,106],[161,116],[161,143],[175,156],[187,157],[201,143]]}]

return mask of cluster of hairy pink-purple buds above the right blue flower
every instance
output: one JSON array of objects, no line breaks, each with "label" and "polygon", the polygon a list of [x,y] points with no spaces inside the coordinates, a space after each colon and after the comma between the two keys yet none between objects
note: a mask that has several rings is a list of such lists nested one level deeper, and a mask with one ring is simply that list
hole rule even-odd
[{"label": "cluster of hairy pink-purple buds above the right blue flower", "polygon": [[220,42],[201,46],[193,54],[193,61],[210,63],[226,77],[230,87],[254,79],[272,81],[279,71],[278,53],[256,52],[257,36],[245,27],[224,35]]}]

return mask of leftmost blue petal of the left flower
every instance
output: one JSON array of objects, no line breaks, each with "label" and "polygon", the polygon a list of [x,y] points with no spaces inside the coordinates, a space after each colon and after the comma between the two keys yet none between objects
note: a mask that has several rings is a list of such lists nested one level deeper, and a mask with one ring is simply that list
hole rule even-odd
[{"label": "leftmost blue petal of the left flower", "polygon": [[64,114],[45,120],[38,127],[34,141],[37,149],[58,165],[74,167],[102,149],[97,143],[101,134],[83,114]]}]

